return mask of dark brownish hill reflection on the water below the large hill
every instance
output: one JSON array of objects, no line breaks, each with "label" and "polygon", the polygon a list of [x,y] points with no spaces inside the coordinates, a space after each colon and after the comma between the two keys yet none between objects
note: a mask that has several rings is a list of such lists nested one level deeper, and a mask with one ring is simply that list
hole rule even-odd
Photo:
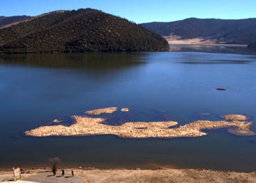
[{"label": "dark brownish hill reflection on the water below the large hill", "polygon": [[[0,62],[5,65],[21,65],[23,67],[46,68],[87,68],[108,69],[138,65],[138,57],[144,53],[87,53],[87,54],[16,54],[1,55]],[[129,57],[129,60],[127,59]],[[91,62],[94,60],[94,62]]]}]

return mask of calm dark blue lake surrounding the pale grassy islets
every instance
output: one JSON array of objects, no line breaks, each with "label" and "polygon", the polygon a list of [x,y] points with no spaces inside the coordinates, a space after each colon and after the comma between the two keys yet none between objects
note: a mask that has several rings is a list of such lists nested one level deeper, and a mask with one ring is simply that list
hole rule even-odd
[{"label": "calm dark blue lake surrounding the pale grassy islets", "polygon": [[256,137],[225,128],[171,139],[23,135],[53,125],[55,118],[69,125],[70,116],[108,106],[130,109],[107,115],[111,125],[166,120],[183,125],[242,113],[256,132],[256,55],[247,48],[235,48],[241,54],[227,49],[0,55],[0,167],[43,167],[50,157],[60,157],[69,167],[256,171]]}]

